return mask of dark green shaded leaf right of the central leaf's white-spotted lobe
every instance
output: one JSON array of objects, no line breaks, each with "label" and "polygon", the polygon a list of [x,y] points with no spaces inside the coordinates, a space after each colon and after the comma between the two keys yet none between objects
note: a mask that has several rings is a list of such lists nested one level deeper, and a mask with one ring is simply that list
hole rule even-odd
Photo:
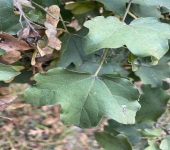
[{"label": "dark green shaded leaf right of the central leaf's white-spotted lobe", "polygon": [[139,103],[141,109],[136,114],[137,122],[154,121],[165,112],[165,107],[170,98],[168,93],[161,88],[151,88],[150,85],[142,85],[143,94]]}]

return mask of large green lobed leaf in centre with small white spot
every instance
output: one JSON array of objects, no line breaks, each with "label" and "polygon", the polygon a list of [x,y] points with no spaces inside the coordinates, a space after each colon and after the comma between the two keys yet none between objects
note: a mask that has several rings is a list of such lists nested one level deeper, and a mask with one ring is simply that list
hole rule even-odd
[{"label": "large green lobed leaf in centre with small white spot", "polygon": [[92,128],[103,115],[132,124],[140,108],[136,101],[139,92],[127,79],[99,78],[56,68],[35,75],[34,80],[37,84],[26,90],[26,101],[36,106],[61,104],[61,120],[65,125]]}]

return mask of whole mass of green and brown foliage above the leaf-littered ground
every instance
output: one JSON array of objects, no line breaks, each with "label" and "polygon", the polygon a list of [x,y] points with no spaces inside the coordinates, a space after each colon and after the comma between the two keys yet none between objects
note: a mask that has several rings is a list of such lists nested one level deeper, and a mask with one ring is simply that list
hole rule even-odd
[{"label": "whole mass of green and brown foliage above the leaf-littered ground", "polygon": [[60,104],[64,125],[111,118],[94,134],[106,150],[170,149],[159,120],[169,115],[170,2],[69,2],[0,0],[0,109],[17,98],[6,86],[28,83],[25,101]]}]

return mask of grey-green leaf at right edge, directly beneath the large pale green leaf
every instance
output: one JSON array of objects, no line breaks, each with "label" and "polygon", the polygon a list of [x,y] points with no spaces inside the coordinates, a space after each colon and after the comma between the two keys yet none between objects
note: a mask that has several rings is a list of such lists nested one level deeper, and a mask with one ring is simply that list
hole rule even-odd
[{"label": "grey-green leaf at right edge, directly beneath the large pale green leaf", "polygon": [[162,86],[162,79],[166,79],[170,75],[170,67],[168,65],[169,56],[162,57],[157,65],[140,66],[135,74],[141,78],[145,84],[151,84],[152,87]]}]

